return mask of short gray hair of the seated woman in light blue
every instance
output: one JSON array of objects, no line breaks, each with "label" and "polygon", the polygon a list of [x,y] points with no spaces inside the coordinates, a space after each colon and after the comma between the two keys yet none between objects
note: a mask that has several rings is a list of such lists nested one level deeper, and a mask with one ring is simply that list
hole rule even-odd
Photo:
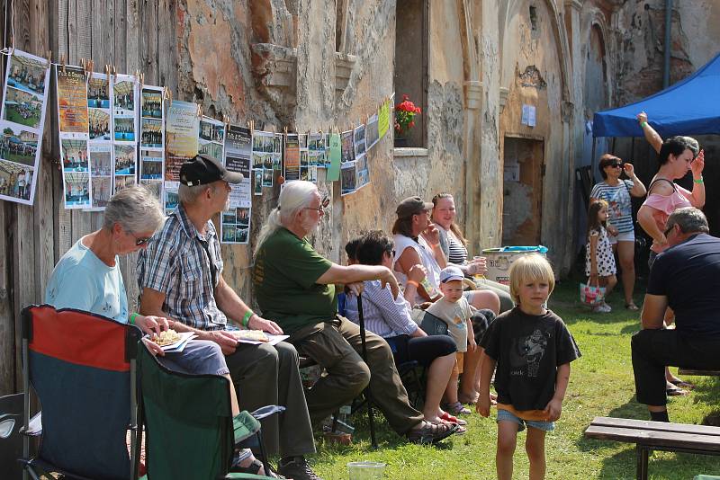
[{"label": "short gray hair of the seated woman in light blue", "polygon": [[103,228],[119,223],[130,232],[156,231],[165,221],[160,202],[153,193],[141,185],[122,189],[105,206]]}]

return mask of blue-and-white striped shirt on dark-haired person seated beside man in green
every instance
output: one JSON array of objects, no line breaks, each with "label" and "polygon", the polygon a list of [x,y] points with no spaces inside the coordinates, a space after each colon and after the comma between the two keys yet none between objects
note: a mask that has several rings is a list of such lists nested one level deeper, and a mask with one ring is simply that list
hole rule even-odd
[{"label": "blue-and-white striped shirt on dark-haired person seated beside man in green", "polygon": [[[383,338],[397,335],[411,335],[418,330],[418,324],[410,318],[410,303],[402,297],[392,298],[390,286],[381,287],[380,280],[367,280],[363,290],[363,319],[365,329]],[[359,324],[357,297],[347,294],[345,315],[351,322]]]}]

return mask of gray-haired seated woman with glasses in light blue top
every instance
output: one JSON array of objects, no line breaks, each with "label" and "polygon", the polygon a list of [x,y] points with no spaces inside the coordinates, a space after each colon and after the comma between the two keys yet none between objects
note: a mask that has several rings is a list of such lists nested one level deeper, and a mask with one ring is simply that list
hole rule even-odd
[{"label": "gray-haired seated woman with glasses in light blue top", "polygon": [[[55,265],[45,289],[45,303],[107,316],[123,324],[130,322],[148,334],[172,327],[164,317],[130,314],[119,264],[120,255],[148,246],[164,221],[159,202],[146,188],[132,186],[115,193],[105,207],[103,227],[77,240]],[[216,343],[191,340],[184,351],[166,354],[155,342],[143,342],[168,369],[228,378],[232,414],[239,413],[235,387]],[[236,452],[233,470],[264,471],[249,449]]]}]

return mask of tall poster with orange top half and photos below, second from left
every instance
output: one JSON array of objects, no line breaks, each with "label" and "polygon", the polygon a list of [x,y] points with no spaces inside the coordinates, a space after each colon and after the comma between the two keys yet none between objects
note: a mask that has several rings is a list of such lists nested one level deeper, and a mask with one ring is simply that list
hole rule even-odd
[{"label": "tall poster with orange top half and photos below, second from left", "polygon": [[58,141],[66,209],[90,207],[90,157],[87,150],[87,84],[81,67],[56,67]]}]

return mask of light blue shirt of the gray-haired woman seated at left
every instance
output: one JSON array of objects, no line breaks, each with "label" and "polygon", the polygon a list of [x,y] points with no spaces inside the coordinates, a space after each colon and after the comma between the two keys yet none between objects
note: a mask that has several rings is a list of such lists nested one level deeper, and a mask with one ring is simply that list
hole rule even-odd
[{"label": "light blue shirt of the gray-haired woman seated at left", "polygon": [[128,322],[128,297],[115,257],[109,267],[78,240],[65,253],[50,275],[45,303],[56,308],[76,308]]}]

